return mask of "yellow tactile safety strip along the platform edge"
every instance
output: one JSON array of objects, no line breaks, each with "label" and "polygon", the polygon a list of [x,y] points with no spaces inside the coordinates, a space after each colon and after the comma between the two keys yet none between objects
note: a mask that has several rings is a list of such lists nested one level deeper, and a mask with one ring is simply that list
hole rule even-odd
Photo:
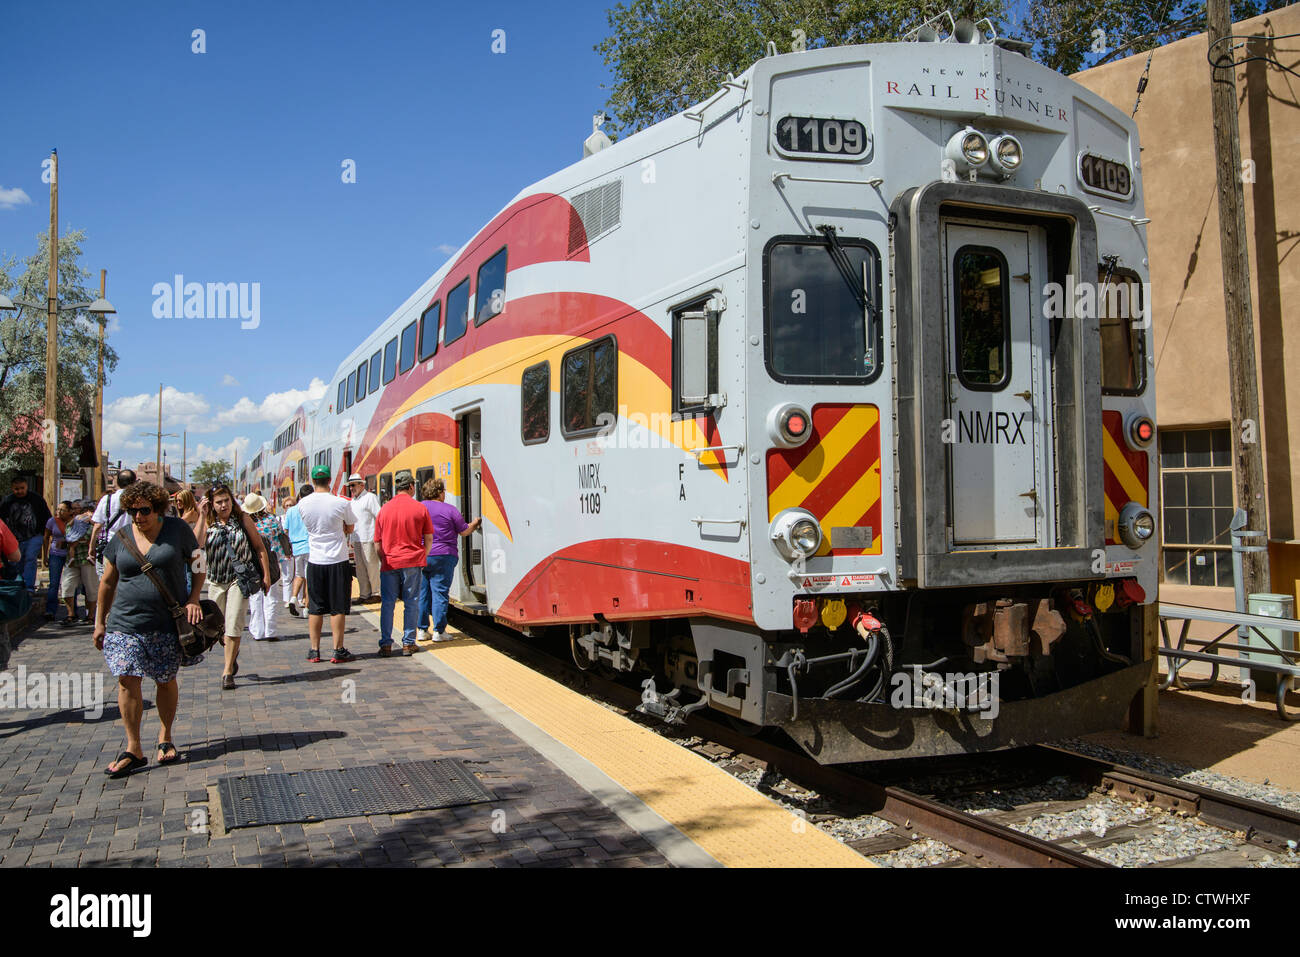
[{"label": "yellow tactile safety strip along the platform edge", "polygon": [[590,761],[727,867],[874,866],[699,755],[473,638],[421,648]]}]

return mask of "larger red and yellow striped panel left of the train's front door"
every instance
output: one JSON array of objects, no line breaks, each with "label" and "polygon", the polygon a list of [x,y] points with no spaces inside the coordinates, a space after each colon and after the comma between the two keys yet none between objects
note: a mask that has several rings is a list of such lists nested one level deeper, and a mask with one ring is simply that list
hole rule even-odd
[{"label": "larger red and yellow striped panel left of the train's front door", "polygon": [[[807,508],[822,524],[819,555],[880,554],[880,410],[828,403],[812,408],[812,434],[798,449],[767,454],[767,518]],[[871,547],[832,549],[832,529],[870,527]]]}]

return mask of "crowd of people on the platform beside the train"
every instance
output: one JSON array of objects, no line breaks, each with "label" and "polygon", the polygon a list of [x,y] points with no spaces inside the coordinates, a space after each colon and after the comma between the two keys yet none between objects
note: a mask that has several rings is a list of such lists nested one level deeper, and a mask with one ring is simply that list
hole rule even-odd
[{"label": "crowd of people on the platform beside the train", "polygon": [[[126,732],[126,748],[105,774],[121,778],[148,765],[140,744],[144,679],[156,687],[156,761],[177,759],[172,741],[177,675],[182,664],[202,661],[185,658],[178,628],[204,619],[204,588],[225,620],[221,687],[226,690],[237,688],[246,624],[255,641],[277,640],[281,603],[291,616],[307,619],[308,662],[322,661],[326,618],[329,661],[355,661],[343,645],[354,567],[358,601],[381,606],[381,658],[393,654],[399,598],[404,655],[415,653],[417,637],[450,640],[447,609],[459,538],[472,534],[482,519],[465,521],[447,505],[441,478],[426,481],[419,501],[410,471],[396,473],[395,494],[382,506],[361,475],[347,476],[351,498],[330,492],[328,465],[316,465],[311,477],[311,486],[299,490],[282,516],[259,492],[242,502],[224,484],[200,499],[188,490],[169,495],[159,485],[136,481],[130,469],[118,473],[117,489],[99,502],[62,502],[51,515],[26,480],[13,480],[10,494],[0,501],[0,577],[21,579],[39,598],[36,570],[44,557],[46,619],[57,619],[62,599],[62,627],[92,625],[95,648],[118,683]],[[79,594],[84,619],[77,610]]]}]

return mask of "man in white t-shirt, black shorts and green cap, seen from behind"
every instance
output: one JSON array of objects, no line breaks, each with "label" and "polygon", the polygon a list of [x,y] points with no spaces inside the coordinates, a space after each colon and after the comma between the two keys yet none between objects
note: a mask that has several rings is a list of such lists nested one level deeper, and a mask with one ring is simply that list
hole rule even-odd
[{"label": "man in white t-shirt, black shorts and green cap, seen from behind", "polygon": [[329,465],[312,469],[312,494],[298,503],[298,515],[307,527],[307,633],[312,646],[307,661],[321,659],[321,629],[329,615],[334,635],[330,662],[341,664],[356,655],[343,648],[343,628],[352,610],[352,570],[347,564],[347,536],[356,516],[346,498],[330,494]]}]

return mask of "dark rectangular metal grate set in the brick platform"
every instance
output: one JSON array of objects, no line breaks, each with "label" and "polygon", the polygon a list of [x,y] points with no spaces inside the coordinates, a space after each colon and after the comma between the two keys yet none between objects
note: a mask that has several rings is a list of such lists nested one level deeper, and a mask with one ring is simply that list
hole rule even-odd
[{"label": "dark rectangular metal grate set in the brick platform", "polygon": [[493,800],[474,774],[454,758],[341,771],[239,775],[220,779],[217,791],[228,830],[424,811]]}]

